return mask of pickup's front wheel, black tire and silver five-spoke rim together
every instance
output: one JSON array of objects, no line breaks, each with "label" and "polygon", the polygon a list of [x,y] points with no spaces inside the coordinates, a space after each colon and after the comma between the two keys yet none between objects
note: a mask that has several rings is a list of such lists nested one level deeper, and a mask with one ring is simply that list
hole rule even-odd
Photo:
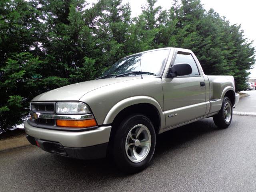
[{"label": "pickup's front wheel, black tire and silver five-spoke rim together", "polygon": [[119,125],[114,138],[114,160],[124,172],[134,173],[146,168],[154,154],[156,133],[144,115],[132,115]]}]

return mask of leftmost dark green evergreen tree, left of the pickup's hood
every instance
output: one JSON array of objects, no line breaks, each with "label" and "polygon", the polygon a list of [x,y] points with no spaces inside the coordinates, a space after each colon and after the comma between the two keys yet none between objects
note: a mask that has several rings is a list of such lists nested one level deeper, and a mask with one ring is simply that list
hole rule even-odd
[{"label": "leftmost dark green evergreen tree, left of the pickup's hood", "polygon": [[39,15],[32,2],[0,1],[0,132],[21,123],[40,93]]}]

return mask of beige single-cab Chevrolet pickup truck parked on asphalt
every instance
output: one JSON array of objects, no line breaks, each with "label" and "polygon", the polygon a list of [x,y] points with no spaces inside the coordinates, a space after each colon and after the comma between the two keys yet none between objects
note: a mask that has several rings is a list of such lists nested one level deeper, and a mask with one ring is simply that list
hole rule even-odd
[{"label": "beige single-cab Chevrolet pickup truck parked on asphalt", "polygon": [[47,152],[108,156],[138,172],[152,159],[157,134],[209,117],[227,128],[238,100],[232,76],[207,76],[191,50],[161,48],[122,58],[96,80],[36,96],[24,128]]}]

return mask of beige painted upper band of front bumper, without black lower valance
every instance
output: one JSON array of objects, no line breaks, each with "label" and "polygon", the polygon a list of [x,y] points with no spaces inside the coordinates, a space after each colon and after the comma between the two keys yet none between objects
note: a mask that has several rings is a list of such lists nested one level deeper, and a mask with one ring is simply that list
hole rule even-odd
[{"label": "beige painted upper band of front bumper, without black lower valance", "polygon": [[110,137],[111,126],[101,126],[94,130],[80,132],[50,130],[33,127],[25,122],[26,134],[34,138],[58,142],[64,147],[82,148],[107,143]]}]

